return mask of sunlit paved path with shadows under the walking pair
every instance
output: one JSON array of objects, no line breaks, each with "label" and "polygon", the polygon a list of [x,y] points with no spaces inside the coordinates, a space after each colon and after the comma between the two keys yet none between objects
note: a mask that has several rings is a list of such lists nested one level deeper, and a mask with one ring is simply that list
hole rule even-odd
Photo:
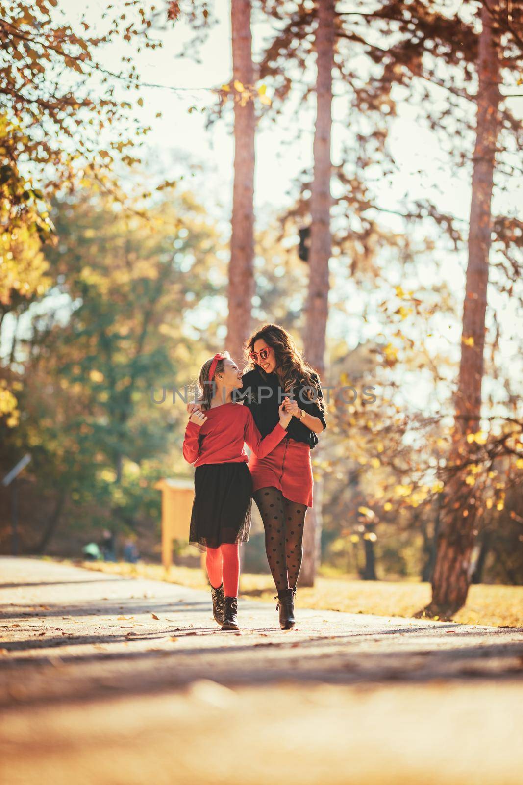
[{"label": "sunlit paved path with shadows under the walking pair", "polygon": [[[299,593],[298,593],[299,597]],[[240,601],[0,558],[9,785],[521,783],[523,630]]]}]

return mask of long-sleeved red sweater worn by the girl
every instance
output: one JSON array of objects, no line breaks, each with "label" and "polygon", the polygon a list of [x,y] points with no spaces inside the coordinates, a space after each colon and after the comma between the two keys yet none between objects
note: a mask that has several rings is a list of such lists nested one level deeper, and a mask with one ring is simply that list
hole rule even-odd
[{"label": "long-sleeved red sweater worn by the girl", "polygon": [[247,462],[247,442],[257,458],[265,458],[287,435],[279,422],[262,438],[251,411],[241,403],[222,403],[204,411],[203,425],[187,422],[183,438],[183,458],[194,466],[202,463]]}]

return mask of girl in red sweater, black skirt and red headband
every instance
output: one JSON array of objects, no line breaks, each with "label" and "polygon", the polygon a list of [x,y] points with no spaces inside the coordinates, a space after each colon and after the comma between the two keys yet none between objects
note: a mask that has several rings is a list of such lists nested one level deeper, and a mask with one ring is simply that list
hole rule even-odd
[{"label": "girl in red sweater, black skirt and red headband", "polygon": [[189,540],[206,550],[212,613],[222,630],[238,630],[239,543],[247,542],[251,526],[244,443],[263,458],[283,439],[292,417],[281,403],[279,422],[262,438],[249,409],[232,402],[231,392],[241,387],[242,374],[228,352],[207,360],[198,378],[202,411],[191,414],[183,439],[183,458],[196,467]]}]

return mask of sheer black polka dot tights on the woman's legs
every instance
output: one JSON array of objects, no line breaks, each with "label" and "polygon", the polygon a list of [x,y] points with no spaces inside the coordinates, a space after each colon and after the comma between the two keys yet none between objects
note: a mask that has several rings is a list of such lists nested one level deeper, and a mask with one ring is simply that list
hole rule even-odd
[{"label": "sheer black polka dot tights on the woman's legs", "polygon": [[252,494],[265,529],[265,550],[278,591],[293,589],[303,556],[303,525],[307,505],[290,502],[276,487]]}]

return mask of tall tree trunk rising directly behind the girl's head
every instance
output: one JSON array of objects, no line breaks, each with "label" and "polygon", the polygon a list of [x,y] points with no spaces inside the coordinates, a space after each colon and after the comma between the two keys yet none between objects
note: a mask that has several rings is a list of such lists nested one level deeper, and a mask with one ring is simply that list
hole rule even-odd
[{"label": "tall tree trunk rising directly behind the girl's head", "polygon": [[[231,0],[232,61],[234,82],[252,86],[252,36],[250,0]],[[234,188],[231,221],[231,261],[227,316],[227,349],[237,363],[251,330],[254,294],[254,131],[252,98],[234,95]],[[242,367],[240,365],[240,367]]]}]

